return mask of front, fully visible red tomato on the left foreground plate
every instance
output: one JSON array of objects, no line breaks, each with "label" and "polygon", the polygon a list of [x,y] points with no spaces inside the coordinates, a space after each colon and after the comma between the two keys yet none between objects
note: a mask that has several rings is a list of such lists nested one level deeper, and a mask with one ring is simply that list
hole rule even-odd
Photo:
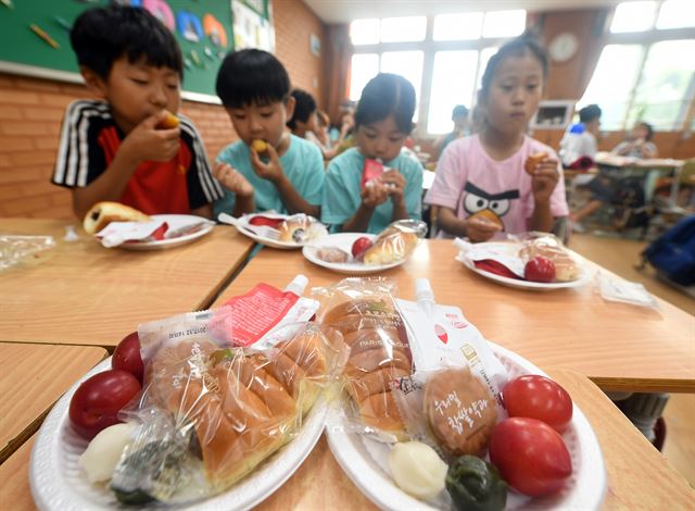
[{"label": "front, fully visible red tomato on the left foreground plate", "polygon": [[119,423],[118,411],[140,391],[140,383],[126,371],[94,374],[77,387],[70,401],[70,422],[77,434],[91,440],[100,431]]}]

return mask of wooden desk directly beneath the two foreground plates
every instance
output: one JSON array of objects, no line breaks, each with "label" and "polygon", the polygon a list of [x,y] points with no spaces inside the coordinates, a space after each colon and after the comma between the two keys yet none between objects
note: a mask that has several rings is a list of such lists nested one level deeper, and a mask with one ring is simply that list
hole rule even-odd
[{"label": "wooden desk directly beneath the two foreground plates", "polygon": [[[605,510],[692,509],[695,491],[601,389],[578,373],[548,372],[570,392],[598,436],[608,473]],[[13,511],[35,509],[28,484],[33,441],[0,465],[0,502],[12,502]],[[343,473],[321,437],[292,477],[257,509],[377,508]]]}]

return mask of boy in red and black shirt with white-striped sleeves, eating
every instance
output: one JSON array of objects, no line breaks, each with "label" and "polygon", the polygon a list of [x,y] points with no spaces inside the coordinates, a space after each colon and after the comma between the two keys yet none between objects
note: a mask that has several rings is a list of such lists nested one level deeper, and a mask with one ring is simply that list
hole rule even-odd
[{"label": "boy in red and black shirt with white-striped sleeves, eating", "polygon": [[73,189],[78,217],[111,200],[147,214],[212,216],[223,196],[193,124],[161,128],[180,104],[181,52],[172,33],[140,8],[86,11],[71,42],[87,87],[101,101],[65,113],[53,183]]}]

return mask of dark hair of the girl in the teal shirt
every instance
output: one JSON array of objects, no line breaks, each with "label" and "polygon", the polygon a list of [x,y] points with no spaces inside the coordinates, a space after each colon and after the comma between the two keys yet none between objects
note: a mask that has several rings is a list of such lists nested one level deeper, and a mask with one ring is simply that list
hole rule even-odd
[{"label": "dark hair of the girl in the teal shirt", "polygon": [[413,84],[401,75],[380,73],[362,91],[355,110],[355,126],[378,123],[393,115],[399,130],[409,134],[413,130],[414,113]]}]

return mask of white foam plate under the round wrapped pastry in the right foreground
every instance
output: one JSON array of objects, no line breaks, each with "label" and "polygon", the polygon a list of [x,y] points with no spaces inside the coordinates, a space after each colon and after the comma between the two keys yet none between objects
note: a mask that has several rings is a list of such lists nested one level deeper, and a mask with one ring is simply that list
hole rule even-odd
[{"label": "white foam plate under the round wrapped pastry in the right foreground", "polygon": [[[509,378],[522,374],[547,376],[531,362],[502,346],[494,342],[490,342],[490,346],[495,357],[507,369]],[[329,424],[340,425],[343,415],[334,410],[330,413],[332,416],[328,421]],[[391,475],[374,460],[362,435],[345,433],[344,428],[340,427],[327,427],[326,434],[330,450],[340,466],[362,493],[381,509],[428,511],[435,509],[402,491]],[[539,499],[507,498],[507,511],[519,508],[599,509],[608,484],[606,468],[596,434],[577,404],[573,406],[572,422],[563,434],[563,438],[572,459],[572,475],[565,487],[557,494]],[[509,497],[519,496],[510,493]],[[510,506],[510,501],[522,503],[515,508]]]}]

